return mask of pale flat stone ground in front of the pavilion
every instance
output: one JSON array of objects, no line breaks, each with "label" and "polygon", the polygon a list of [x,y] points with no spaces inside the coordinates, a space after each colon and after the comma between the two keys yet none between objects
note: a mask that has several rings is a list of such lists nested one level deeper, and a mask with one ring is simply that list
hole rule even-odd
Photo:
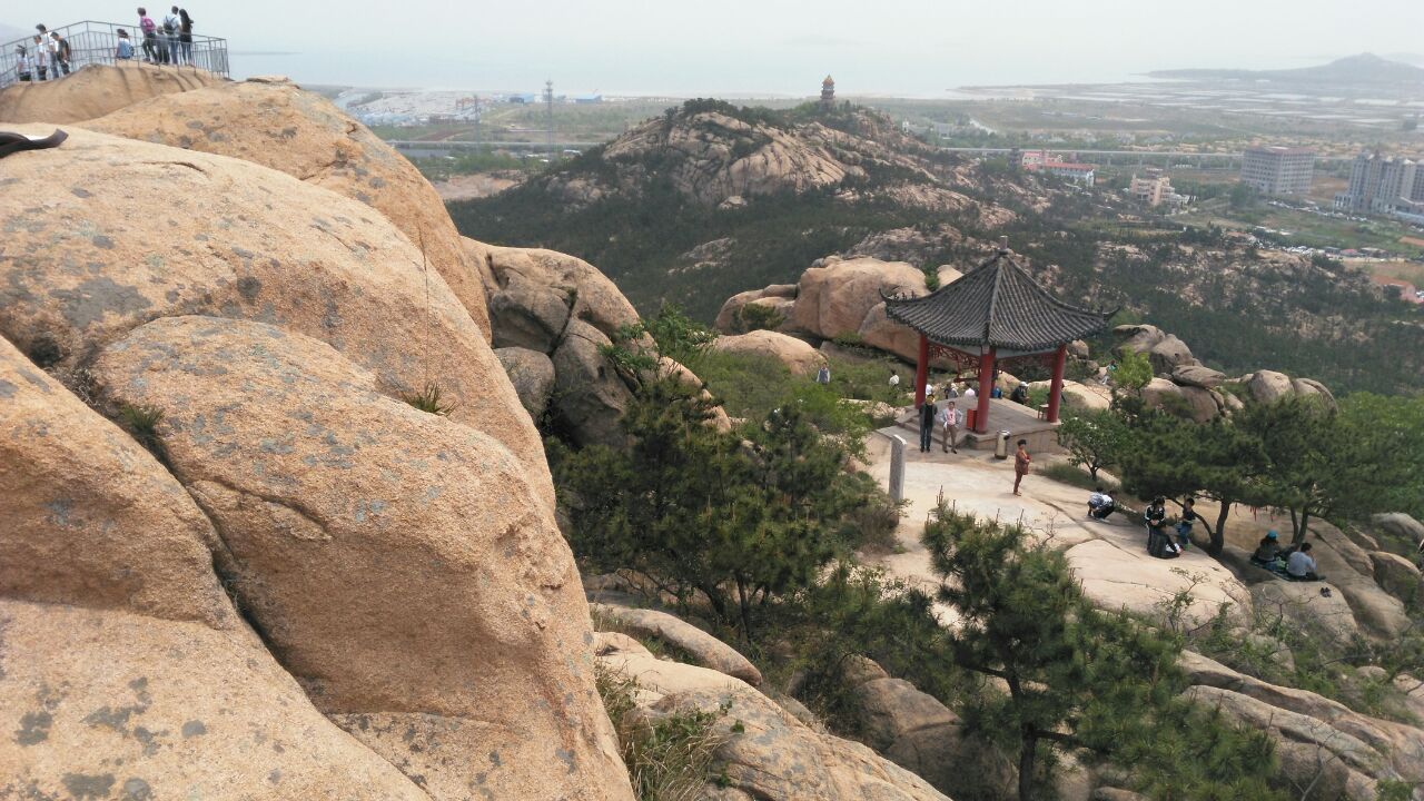
[{"label": "pale flat stone ground in front of the pavilion", "polygon": [[[903,429],[883,429],[866,443],[870,475],[881,487],[889,485],[889,436],[896,433],[904,435]],[[1034,466],[1042,467],[1054,459],[1061,456],[1035,456]],[[936,497],[943,492],[957,509],[981,517],[1021,520],[1052,537],[1055,546],[1065,550],[1084,590],[1098,606],[1152,613],[1155,604],[1196,583],[1189,611],[1196,620],[1215,614],[1223,601],[1242,610],[1250,607],[1246,587],[1200,549],[1193,546],[1179,559],[1153,559],[1146,553],[1146,532],[1135,517],[1089,520],[1085,490],[1037,475],[1024,479],[1022,496],[1015,497],[1012,489],[1012,462],[997,460],[988,452],[963,449],[957,455],[938,450],[920,453],[917,445],[909,442],[904,496],[910,506],[896,532],[901,553],[867,556],[866,562],[924,589],[937,587],[920,534]],[[941,613],[953,617],[950,610]]]}]

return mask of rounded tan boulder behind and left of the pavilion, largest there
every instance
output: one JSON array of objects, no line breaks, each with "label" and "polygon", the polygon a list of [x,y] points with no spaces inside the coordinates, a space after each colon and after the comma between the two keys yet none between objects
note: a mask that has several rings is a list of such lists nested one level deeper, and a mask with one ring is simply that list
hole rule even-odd
[{"label": "rounded tan boulder behind and left of the pavilion, largest there", "polygon": [[827,258],[802,274],[796,292],[796,326],[834,339],[859,334],[881,292],[924,295],[924,274],[906,262],[873,258]]}]

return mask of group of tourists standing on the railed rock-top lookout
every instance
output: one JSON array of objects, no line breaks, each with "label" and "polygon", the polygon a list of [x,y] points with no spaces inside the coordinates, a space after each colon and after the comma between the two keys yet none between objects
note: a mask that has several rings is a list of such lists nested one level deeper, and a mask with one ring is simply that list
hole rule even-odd
[{"label": "group of tourists standing on the railed rock-top lookout", "polygon": [[[162,17],[161,23],[155,23],[148,16],[148,9],[140,7],[137,26],[138,36],[142,40],[140,48],[135,50],[134,38],[127,29],[117,29],[114,31],[115,41],[112,51],[105,51],[103,57],[90,57],[88,60],[130,61],[138,58],[140,53],[142,53],[145,64],[192,67],[195,66],[192,56],[192,27],[194,21],[187,9],[174,6]],[[43,23],[34,26],[34,30],[38,33],[34,34],[31,44],[17,44],[14,48],[20,81],[56,81],[83,66],[75,63],[77,54],[60,31],[51,31]]]}]

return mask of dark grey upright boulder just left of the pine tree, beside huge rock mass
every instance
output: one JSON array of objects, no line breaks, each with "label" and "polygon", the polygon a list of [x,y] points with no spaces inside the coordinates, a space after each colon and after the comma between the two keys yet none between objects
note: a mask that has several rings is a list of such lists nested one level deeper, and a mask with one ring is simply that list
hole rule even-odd
[{"label": "dark grey upright boulder just left of the pine tree, beside huge rock mass", "polygon": [[602,331],[575,319],[554,351],[554,410],[578,445],[618,448],[627,442],[618,423],[632,403],[632,391],[604,358],[609,345]]}]

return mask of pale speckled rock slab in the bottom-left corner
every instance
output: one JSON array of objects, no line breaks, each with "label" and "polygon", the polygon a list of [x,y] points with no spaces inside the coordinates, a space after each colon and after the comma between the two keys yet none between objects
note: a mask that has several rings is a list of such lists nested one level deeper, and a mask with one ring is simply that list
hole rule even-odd
[{"label": "pale speckled rock slab in the bottom-left corner", "polygon": [[431,798],[245,629],[13,599],[0,626],[0,798]]}]

